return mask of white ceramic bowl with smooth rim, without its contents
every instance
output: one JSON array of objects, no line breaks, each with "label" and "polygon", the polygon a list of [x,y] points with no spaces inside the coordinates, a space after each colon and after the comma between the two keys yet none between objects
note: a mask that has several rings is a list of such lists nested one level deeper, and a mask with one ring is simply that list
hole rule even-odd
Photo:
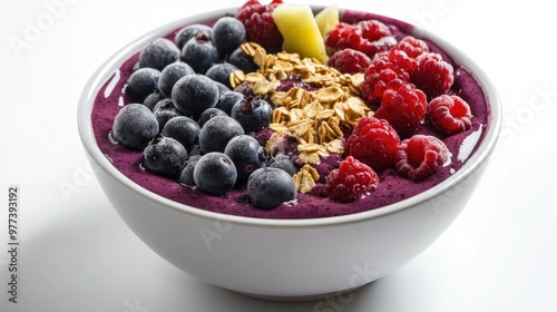
[{"label": "white ceramic bowl with smooth rim, without its contents", "polygon": [[[315,7],[316,10],[321,9]],[[402,266],[433,243],[461,212],[487,165],[501,126],[496,90],[470,59],[423,29],[467,67],[486,94],[485,139],[453,176],[405,201],[368,212],[312,220],[262,220],[183,205],[133,183],[97,147],[90,113],[96,94],[124,60],[180,26],[215,20],[236,8],[188,17],[139,38],[108,59],[85,87],[78,126],[96,176],[125,223],[183,271],[236,292],[271,299],[313,299],[365,285]]]}]

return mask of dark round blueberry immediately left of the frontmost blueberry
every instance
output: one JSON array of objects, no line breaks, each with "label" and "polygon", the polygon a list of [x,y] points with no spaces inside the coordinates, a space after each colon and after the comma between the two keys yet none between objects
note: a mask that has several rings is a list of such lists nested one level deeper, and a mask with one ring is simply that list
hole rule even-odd
[{"label": "dark round blueberry immediately left of the frontmost blueberry", "polygon": [[223,153],[203,155],[194,167],[195,185],[209,194],[223,196],[236,183],[236,167]]}]

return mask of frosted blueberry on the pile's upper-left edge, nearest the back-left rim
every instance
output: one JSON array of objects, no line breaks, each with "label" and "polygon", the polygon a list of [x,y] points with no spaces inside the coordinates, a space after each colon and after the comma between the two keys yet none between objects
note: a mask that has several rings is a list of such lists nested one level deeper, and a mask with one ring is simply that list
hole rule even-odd
[{"label": "frosted blueberry on the pile's upper-left edge, nearest the back-left rim", "polygon": [[163,70],[167,65],[177,61],[179,57],[180,50],[173,41],[166,38],[157,38],[139,53],[139,67]]}]

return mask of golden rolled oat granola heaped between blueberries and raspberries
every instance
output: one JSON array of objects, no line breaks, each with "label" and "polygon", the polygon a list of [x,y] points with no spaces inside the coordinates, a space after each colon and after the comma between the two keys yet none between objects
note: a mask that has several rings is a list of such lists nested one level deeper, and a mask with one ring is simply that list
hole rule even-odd
[{"label": "golden rolled oat granola heaped between blueberries and raspberries", "polygon": [[[373,116],[360,98],[363,74],[342,74],[314,58],[300,58],[297,53],[267,53],[254,42],[243,43],[242,49],[253,57],[258,69],[248,74],[233,72],[232,86],[247,82],[257,96],[270,96],[276,105],[270,128],[275,135],[297,140],[299,158],[304,165],[314,165],[320,157],[342,155],[343,129],[351,130],[360,118]],[[314,89],[293,87],[277,91],[281,80],[287,77],[300,77]],[[310,168],[313,167],[303,166],[293,177],[301,193],[310,192],[319,181],[316,170]]]}]

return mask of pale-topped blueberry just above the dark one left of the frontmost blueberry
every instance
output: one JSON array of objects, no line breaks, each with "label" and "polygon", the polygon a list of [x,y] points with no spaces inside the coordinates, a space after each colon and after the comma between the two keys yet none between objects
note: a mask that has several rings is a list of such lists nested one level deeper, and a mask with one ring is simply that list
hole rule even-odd
[{"label": "pale-topped blueberry just above the dark one left of the frontmost blueberry", "polygon": [[215,116],[208,119],[199,131],[201,150],[202,153],[222,153],[233,137],[243,134],[242,125],[232,117]]}]

